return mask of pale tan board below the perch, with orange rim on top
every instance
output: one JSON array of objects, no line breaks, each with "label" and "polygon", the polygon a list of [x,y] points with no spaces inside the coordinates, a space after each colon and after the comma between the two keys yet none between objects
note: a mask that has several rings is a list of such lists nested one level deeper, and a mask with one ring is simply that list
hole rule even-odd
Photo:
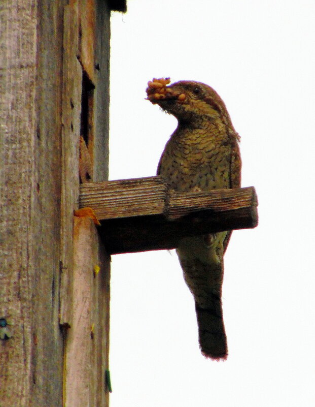
[{"label": "pale tan board below the perch, with orange rim on top", "polygon": [[[95,269],[95,266],[100,268]],[[66,407],[108,406],[110,258],[89,218],[74,218],[73,325],[65,349]]]}]

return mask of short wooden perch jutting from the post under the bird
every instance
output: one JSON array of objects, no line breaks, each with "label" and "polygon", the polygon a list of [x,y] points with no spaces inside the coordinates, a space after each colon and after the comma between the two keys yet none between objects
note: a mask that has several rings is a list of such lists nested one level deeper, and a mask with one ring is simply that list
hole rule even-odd
[{"label": "short wooden perch jutting from the post under the bird", "polygon": [[177,193],[162,177],[85,183],[79,207],[91,207],[110,254],[171,249],[180,239],[255,228],[255,188]]}]

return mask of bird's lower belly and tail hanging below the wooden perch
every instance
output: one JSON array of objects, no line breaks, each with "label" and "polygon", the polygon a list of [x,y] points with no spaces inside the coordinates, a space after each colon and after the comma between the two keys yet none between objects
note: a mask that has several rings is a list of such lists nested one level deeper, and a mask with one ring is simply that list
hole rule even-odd
[{"label": "bird's lower belly and tail hanging below the wooden perch", "polygon": [[195,299],[201,352],[215,360],[224,360],[228,354],[221,301],[226,235],[188,237],[177,249],[186,284]]}]

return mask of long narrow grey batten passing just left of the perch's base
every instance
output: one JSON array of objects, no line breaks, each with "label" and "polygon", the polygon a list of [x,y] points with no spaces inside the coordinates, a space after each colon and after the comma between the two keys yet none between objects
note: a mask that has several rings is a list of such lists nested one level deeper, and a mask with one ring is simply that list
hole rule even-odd
[{"label": "long narrow grey batten passing just left of the perch's base", "polygon": [[60,324],[71,325],[73,273],[73,212],[79,199],[79,140],[82,68],[78,61],[77,8],[66,6],[63,17]]}]

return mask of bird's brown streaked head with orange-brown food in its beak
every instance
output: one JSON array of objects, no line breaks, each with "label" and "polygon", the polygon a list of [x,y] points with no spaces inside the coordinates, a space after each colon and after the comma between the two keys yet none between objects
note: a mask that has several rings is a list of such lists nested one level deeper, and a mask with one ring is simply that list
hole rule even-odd
[{"label": "bird's brown streaked head with orange-brown food in its beak", "polygon": [[169,78],[149,81],[147,99],[175,116],[180,123],[198,126],[205,119],[221,119],[228,127],[232,127],[224,102],[211,86],[195,81],[179,81],[168,85],[169,82]]}]

